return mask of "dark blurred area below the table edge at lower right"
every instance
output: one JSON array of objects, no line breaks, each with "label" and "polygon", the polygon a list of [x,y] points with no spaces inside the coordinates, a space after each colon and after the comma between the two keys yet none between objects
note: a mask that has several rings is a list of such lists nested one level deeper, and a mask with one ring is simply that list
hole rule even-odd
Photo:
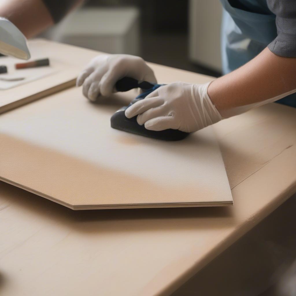
[{"label": "dark blurred area below the table edge at lower right", "polygon": [[295,295],[295,211],[296,194],[171,295]]}]

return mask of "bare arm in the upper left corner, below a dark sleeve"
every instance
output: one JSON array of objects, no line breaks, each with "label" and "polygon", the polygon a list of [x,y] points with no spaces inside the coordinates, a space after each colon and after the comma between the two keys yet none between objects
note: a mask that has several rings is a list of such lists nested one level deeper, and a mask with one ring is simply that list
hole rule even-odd
[{"label": "bare arm in the upper left corner, below a dark sleeve", "polygon": [[[83,0],[73,0],[73,6]],[[42,0],[6,0],[0,2],[0,16],[10,20],[27,37],[33,37],[54,24]]]}]

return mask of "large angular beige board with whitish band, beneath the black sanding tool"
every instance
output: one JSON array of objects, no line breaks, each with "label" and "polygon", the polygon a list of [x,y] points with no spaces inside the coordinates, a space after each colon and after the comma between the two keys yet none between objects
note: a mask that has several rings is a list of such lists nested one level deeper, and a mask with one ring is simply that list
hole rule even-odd
[{"label": "large angular beige board with whitish band, beneath the black sanding tool", "polygon": [[0,116],[0,178],[74,209],[232,204],[212,127],[176,142],[110,127],[136,91],[73,88]]}]

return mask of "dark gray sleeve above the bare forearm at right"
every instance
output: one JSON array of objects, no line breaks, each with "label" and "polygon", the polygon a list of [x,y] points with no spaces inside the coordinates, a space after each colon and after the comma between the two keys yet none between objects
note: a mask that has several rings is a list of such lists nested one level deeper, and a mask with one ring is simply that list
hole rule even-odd
[{"label": "dark gray sleeve above the bare forearm at right", "polygon": [[282,57],[296,57],[296,0],[267,0],[276,15],[277,37],[268,48]]}]

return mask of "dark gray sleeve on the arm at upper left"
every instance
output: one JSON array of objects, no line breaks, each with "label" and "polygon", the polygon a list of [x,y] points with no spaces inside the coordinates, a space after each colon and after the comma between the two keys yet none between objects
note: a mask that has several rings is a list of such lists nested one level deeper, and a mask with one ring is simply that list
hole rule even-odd
[{"label": "dark gray sleeve on the arm at upper left", "polygon": [[59,22],[77,3],[77,0],[43,0],[55,23]]}]

